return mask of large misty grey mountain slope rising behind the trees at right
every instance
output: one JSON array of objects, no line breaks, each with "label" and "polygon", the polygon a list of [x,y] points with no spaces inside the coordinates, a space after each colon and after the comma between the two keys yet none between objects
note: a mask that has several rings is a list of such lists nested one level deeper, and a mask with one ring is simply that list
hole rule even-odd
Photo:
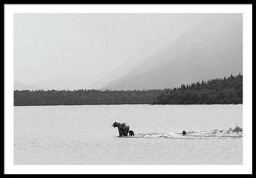
[{"label": "large misty grey mountain slope rising behind the trees at right", "polygon": [[243,17],[207,16],[104,89],[163,89],[243,73]]}]

